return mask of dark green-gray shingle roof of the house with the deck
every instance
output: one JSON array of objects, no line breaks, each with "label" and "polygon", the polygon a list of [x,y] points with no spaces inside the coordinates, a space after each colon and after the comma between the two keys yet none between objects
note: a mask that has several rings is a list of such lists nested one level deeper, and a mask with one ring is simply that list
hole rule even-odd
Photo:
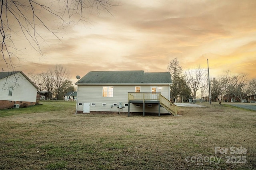
[{"label": "dark green-gray shingle roof of the house with the deck", "polygon": [[171,84],[169,72],[91,71],[76,84]]}]

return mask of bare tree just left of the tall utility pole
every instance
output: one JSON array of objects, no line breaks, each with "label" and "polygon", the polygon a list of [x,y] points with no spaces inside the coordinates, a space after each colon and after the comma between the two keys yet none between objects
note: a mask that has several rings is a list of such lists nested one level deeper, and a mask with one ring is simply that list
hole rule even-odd
[{"label": "bare tree just left of the tall utility pole", "polygon": [[188,86],[190,87],[191,93],[194,99],[196,99],[196,92],[202,88],[202,86],[200,86],[202,84],[201,82],[206,78],[206,70],[201,68],[199,65],[195,69],[185,70],[184,75],[186,81],[188,82]]}]

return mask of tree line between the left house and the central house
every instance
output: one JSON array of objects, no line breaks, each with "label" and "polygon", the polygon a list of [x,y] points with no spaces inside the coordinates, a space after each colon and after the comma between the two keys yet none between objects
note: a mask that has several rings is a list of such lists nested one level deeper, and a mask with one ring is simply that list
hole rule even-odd
[{"label": "tree line between the left house and the central house", "polygon": [[30,72],[28,77],[38,87],[38,94],[42,91],[47,92],[49,100],[63,100],[67,92],[76,90],[69,78],[68,70],[59,64],[46,72]]}]

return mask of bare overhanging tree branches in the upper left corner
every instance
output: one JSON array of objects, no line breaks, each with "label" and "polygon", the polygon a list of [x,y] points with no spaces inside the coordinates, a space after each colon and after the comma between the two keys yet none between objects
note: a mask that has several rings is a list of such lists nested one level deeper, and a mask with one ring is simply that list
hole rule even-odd
[{"label": "bare overhanging tree branches in the upper left corner", "polygon": [[111,0],[0,0],[0,61],[14,70],[13,59],[20,59],[21,47],[17,40],[26,39],[30,46],[43,55],[41,45],[47,34],[59,39],[58,33],[68,25],[88,22],[94,10],[110,13],[115,6]]}]

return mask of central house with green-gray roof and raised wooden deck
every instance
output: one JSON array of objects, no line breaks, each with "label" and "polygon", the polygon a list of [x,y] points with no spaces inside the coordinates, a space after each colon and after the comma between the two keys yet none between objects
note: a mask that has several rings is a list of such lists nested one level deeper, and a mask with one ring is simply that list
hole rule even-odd
[{"label": "central house with green-gray roof and raised wooden deck", "polygon": [[76,113],[173,113],[169,72],[91,71],[76,85]]}]

